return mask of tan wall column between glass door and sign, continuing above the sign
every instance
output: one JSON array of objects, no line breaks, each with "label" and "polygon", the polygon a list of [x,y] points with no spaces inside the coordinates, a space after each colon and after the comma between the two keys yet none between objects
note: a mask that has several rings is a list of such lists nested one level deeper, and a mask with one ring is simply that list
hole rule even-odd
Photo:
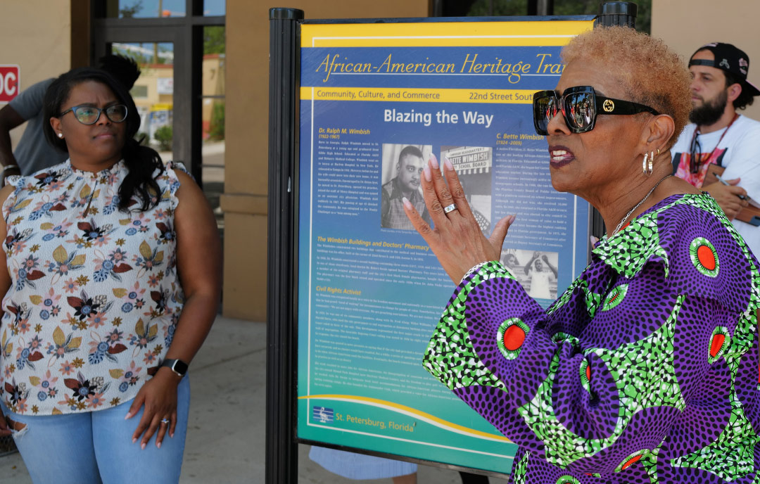
[{"label": "tan wall column between glass door and sign, continuing above the sign", "polygon": [[[267,297],[269,8],[227,0],[223,314],[264,321]],[[294,0],[306,18],[427,17],[429,0]]]}]

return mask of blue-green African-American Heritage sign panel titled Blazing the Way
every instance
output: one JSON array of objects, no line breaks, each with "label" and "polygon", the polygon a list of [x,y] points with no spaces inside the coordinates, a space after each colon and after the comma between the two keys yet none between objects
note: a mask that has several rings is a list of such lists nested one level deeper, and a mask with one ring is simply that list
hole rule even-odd
[{"label": "blue-green African-American Heritage sign panel titled Blazing the Way", "polygon": [[448,158],[502,261],[544,306],[587,263],[589,206],[553,190],[532,95],[593,21],[305,23],[299,138],[299,438],[509,473],[515,444],[422,356],[454,283],[410,226]]}]

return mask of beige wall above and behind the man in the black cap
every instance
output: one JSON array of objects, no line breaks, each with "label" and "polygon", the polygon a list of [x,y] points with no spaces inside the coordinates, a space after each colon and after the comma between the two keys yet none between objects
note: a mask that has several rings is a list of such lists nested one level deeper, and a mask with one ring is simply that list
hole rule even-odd
[{"label": "beige wall above and behind the man in the black cap", "polygon": [[[683,56],[684,62],[699,46],[727,42],[749,55],[749,81],[760,86],[760,36],[756,0],[652,0],[652,35],[660,37]],[[760,100],[742,114],[760,119]]]}]

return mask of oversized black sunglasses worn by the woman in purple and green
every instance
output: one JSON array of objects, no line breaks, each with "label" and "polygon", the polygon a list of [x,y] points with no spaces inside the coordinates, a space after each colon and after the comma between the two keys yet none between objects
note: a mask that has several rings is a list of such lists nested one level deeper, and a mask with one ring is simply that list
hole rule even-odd
[{"label": "oversized black sunglasses worn by the woman in purple and green", "polygon": [[568,87],[562,96],[554,90],[540,90],[533,95],[533,124],[538,134],[549,134],[549,121],[559,110],[573,133],[594,129],[598,114],[660,114],[643,104],[597,96],[591,86]]}]

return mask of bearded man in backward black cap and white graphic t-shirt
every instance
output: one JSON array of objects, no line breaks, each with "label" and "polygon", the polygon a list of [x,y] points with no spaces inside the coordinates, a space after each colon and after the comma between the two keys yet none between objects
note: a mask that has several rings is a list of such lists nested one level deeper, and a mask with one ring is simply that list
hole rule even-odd
[{"label": "bearded man in backward black cap and white graphic t-shirt", "polygon": [[[708,191],[760,255],[760,226],[734,218],[747,206],[748,195],[760,202],[760,122],[736,112],[760,95],[747,81],[749,56],[731,44],[709,43],[689,59],[689,71],[692,124],[671,150],[673,172]],[[717,181],[708,169],[717,173]]]}]

